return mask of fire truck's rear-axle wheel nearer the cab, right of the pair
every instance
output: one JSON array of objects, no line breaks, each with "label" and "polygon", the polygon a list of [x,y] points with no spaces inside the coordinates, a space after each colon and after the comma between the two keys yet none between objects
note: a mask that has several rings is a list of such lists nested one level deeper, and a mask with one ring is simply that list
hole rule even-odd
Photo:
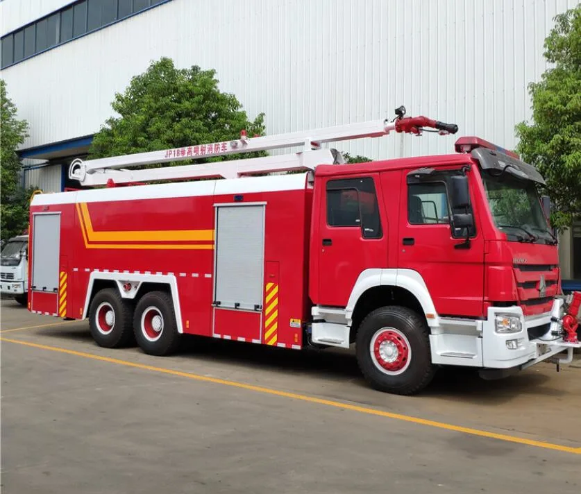
[{"label": "fire truck's rear-axle wheel nearer the cab, right of the pair", "polygon": [[175,352],[180,334],[171,297],[164,291],[142,296],[135,307],[133,330],[137,345],[148,355],[162,357]]}]

